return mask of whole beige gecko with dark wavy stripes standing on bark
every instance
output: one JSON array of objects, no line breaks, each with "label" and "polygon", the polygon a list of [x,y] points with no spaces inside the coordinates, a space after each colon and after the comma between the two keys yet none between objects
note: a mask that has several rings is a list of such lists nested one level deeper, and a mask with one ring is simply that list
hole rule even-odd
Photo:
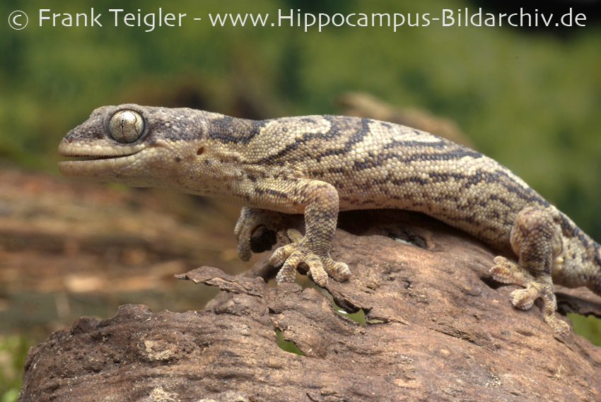
[{"label": "whole beige gecko with dark wavy stripes standing on bark", "polygon": [[[339,211],[398,208],[457,227],[503,255],[490,275],[520,285],[510,301],[556,317],[553,285],[601,295],[601,247],[564,213],[495,160],[424,131],[359,117],[312,115],[248,120],[188,108],[134,104],[94,110],[59,144],[68,177],[159,187],[243,206],[235,236],[251,256],[250,236],[275,214],[304,215],[305,234],[269,264],[276,282],[296,280],[304,263],[322,287],[349,267],[330,255]],[[508,259],[515,256],[515,259]]]}]

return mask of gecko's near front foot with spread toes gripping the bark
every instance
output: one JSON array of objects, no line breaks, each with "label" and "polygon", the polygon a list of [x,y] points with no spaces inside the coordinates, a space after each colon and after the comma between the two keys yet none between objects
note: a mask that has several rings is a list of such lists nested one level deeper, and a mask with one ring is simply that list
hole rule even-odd
[{"label": "gecko's near front foot with spread toes gripping the bark", "polygon": [[325,287],[328,275],[335,280],[345,280],[351,276],[349,267],[343,262],[334,261],[329,253],[317,254],[308,247],[305,237],[298,230],[288,230],[288,237],[292,243],[276,249],[269,258],[272,266],[282,266],[276,276],[276,282],[291,283],[296,279],[296,267],[305,263],[313,281],[317,285]]}]

